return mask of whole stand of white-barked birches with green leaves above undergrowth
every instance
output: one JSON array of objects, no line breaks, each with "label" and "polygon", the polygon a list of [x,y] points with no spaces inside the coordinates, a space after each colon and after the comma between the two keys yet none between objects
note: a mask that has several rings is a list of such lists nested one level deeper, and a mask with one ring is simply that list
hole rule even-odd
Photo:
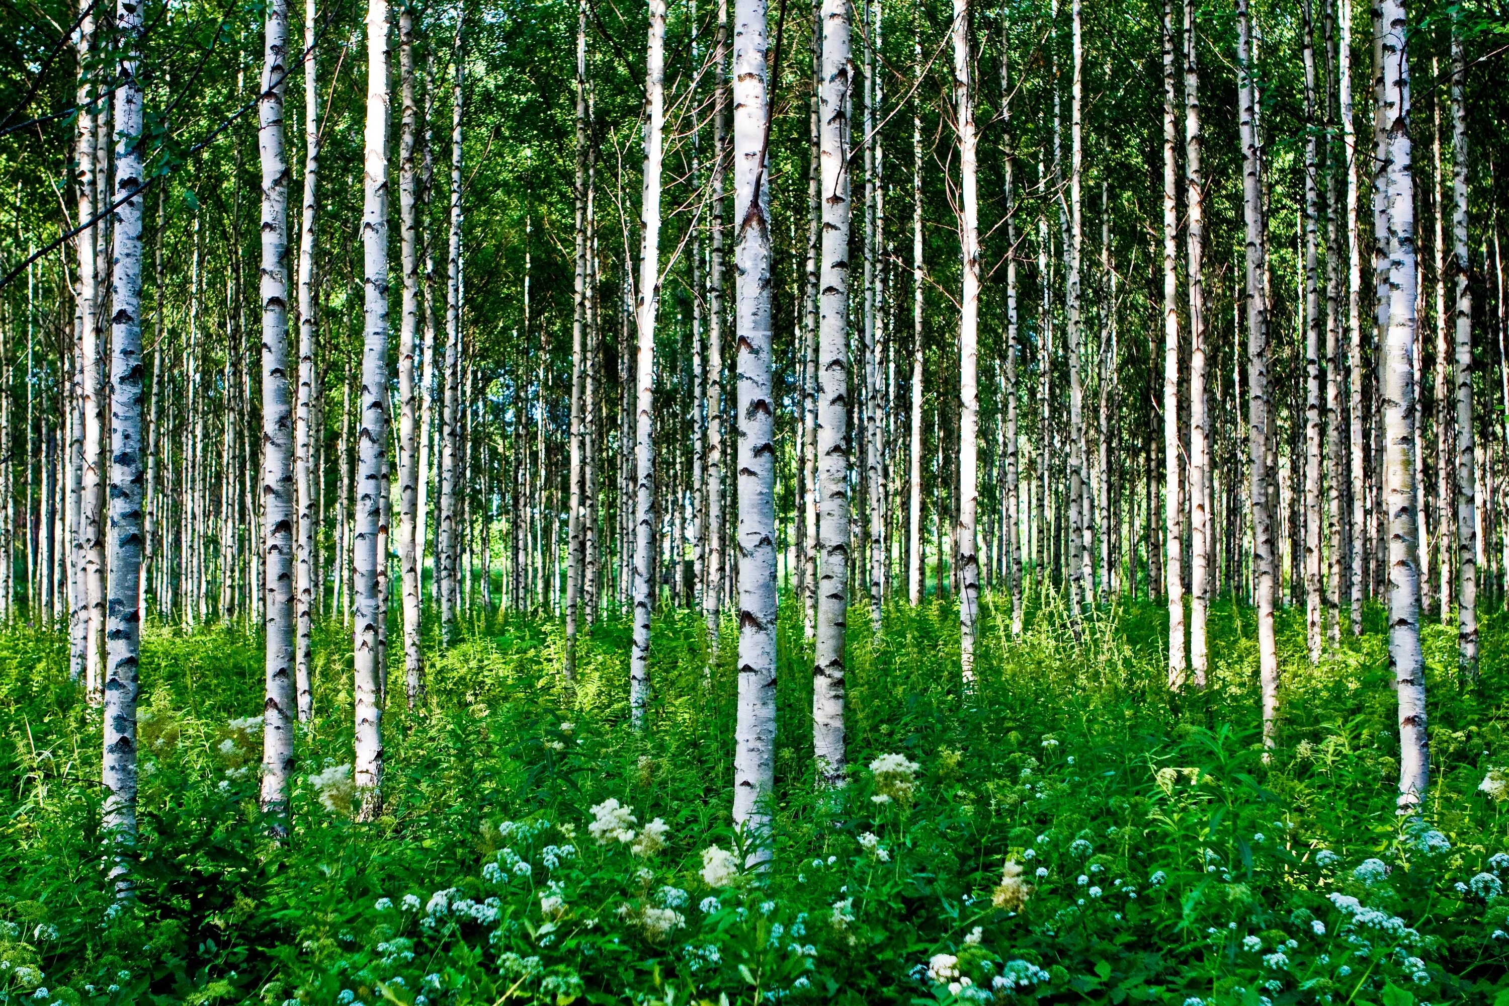
[{"label": "whole stand of white-barked birches with green leaves above undergrowth", "polygon": [[830,784],[853,611],[957,600],[967,685],[982,605],[1077,635],[1147,593],[1179,689],[1233,596],[1271,742],[1275,608],[1319,662],[1378,600],[1424,790],[1420,618],[1473,674],[1509,570],[1489,14],[29,11],[0,611],[71,632],[122,837],[148,617],[266,633],[275,822],[317,620],[350,626],[370,817],[389,667],[418,704],[427,643],[516,612],[563,618],[569,679],[622,615],[649,728],[668,605],[736,632],[759,827],[777,597]]}]

